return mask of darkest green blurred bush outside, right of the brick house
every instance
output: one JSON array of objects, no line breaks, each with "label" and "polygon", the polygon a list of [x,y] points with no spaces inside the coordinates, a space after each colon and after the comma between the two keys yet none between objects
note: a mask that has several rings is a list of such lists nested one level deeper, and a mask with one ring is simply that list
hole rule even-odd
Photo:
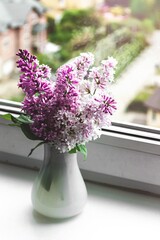
[{"label": "darkest green blurred bush outside, right of the brick house", "polygon": [[60,22],[48,18],[49,41],[61,46],[54,55],[38,54],[40,63],[49,65],[56,70],[60,65],[74,56],[74,50],[83,51],[88,43],[95,42],[100,18],[93,9],[64,11]]}]

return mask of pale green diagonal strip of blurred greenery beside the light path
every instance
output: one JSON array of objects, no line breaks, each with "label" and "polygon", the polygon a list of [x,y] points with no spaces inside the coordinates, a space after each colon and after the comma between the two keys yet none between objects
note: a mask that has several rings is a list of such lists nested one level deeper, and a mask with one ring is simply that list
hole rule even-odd
[{"label": "pale green diagonal strip of blurred greenery beside the light path", "polygon": [[140,54],[147,43],[143,34],[131,32],[127,28],[121,28],[101,39],[96,47],[93,47],[96,64],[108,56],[114,56],[117,61],[116,78],[123,70]]}]

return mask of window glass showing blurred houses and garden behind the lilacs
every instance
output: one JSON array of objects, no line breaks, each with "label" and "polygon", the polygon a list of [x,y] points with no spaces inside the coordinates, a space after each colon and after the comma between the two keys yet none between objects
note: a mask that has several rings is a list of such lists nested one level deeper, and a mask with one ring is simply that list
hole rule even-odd
[{"label": "window glass showing blurred houses and garden behind the lilacs", "polygon": [[114,56],[113,120],[160,127],[159,0],[0,0],[0,98],[23,99],[19,48],[53,73],[80,52]]}]

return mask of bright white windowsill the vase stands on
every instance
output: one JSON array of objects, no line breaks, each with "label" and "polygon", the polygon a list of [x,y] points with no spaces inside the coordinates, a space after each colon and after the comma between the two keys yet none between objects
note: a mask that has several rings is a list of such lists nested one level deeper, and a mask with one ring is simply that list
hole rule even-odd
[{"label": "bright white windowsill the vase stands on", "polygon": [[32,209],[36,174],[0,164],[1,239],[158,239],[159,198],[87,182],[84,211],[65,221],[50,220]]}]

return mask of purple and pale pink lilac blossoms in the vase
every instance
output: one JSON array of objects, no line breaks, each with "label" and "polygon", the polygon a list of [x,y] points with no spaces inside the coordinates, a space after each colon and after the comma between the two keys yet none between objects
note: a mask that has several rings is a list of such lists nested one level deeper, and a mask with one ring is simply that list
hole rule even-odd
[{"label": "purple and pale pink lilac blossoms in the vase", "polygon": [[62,65],[51,81],[48,66],[40,65],[27,50],[19,50],[17,67],[22,74],[18,86],[25,93],[24,112],[31,117],[32,132],[61,152],[100,136],[110,125],[116,102],[108,93],[116,60],[109,57],[93,67],[94,56],[82,53]]}]

